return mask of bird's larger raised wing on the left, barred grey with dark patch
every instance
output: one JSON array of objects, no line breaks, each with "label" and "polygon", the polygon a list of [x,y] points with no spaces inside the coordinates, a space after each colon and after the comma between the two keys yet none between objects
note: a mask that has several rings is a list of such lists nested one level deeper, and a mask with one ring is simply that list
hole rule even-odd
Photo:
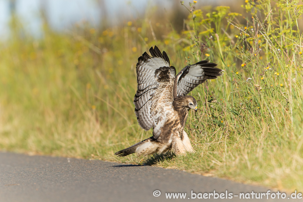
[{"label": "bird's larger raised wing on the left, barred grey with dark patch", "polygon": [[[137,82],[138,90],[135,94],[135,114],[139,125],[149,130],[151,127],[161,128],[158,123],[163,120],[165,106],[173,102],[172,88],[175,78],[175,68],[170,67],[167,54],[159,51],[158,47],[150,48],[149,56],[146,52],[138,58]],[[157,138],[160,131],[155,131]]]}]

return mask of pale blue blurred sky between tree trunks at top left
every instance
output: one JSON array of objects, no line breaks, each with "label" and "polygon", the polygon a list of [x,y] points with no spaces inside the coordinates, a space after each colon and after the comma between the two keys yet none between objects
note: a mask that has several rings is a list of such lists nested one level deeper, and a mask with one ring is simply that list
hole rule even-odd
[{"label": "pale blue blurred sky between tree trunks at top left", "polygon": [[[16,12],[25,28],[37,35],[41,28],[39,9],[45,2],[50,25],[58,30],[71,27],[76,22],[86,20],[98,25],[101,19],[98,0],[16,0]],[[136,13],[145,11],[148,1],[140,0],[115,0],[105,1],[108,19],[112,24],[130,19]],[[136,11],[136,12],[133,12]],[[8,22],[10,18],[9,0],[0,0],[0,36],[8,35]],[[39,34],[38,34],[39,35]]]}]

